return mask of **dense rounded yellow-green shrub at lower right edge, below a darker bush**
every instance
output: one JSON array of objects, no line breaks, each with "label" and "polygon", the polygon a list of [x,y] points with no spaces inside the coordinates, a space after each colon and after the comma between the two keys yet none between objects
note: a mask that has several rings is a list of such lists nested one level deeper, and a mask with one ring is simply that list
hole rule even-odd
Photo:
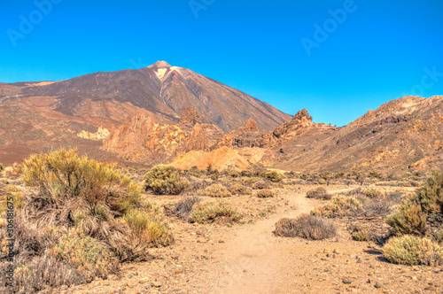
[{"label": "dense rounded yellow-green shrub at lower right edge, below a darker bush", "polygon": [[420,236],[392,237],[383,247],[383,255],[390,262],[402,265],[443,265],[443,247]]}]

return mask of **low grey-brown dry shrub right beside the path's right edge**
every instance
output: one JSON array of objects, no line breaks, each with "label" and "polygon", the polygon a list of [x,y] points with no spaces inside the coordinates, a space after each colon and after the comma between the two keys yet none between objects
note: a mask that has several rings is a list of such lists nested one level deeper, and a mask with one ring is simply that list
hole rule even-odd
[{"label": "low grey-brown dry shrub right beside the path's right edge", "polygon": [[281,219],[276,223],[276,236],[299,236],[307,240],[323,240],[336,236],[332,221],[312,214],[302,214],[296,219]]}]

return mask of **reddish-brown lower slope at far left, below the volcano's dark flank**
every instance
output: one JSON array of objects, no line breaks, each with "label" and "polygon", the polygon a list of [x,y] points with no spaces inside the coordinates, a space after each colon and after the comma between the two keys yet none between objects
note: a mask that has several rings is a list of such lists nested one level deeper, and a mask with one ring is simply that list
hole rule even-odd
[{"label": "reddish-brown lower slope at far left, below the volcano's dark flank", "polygon": [[98,128],[118,128],[126,113],[152,117],[161,123],[167,120],[132,104],[112,101],[82,100],[75,115],[58,112],[56,97],[7,98],[0,102],[0,162],[12,164],[29,154],[56,149],[61,146],[77,148],[96,159],[117,159],[103,151],[102,142],[86,140],[78,135],[83,131],[96,133]]}]

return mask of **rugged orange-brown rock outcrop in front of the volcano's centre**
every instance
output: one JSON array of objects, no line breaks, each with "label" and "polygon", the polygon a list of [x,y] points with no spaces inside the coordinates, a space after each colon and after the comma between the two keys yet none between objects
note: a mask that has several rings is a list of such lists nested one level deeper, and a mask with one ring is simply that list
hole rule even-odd
[{"label": "rugged orange-brown rock outcrop in front of the volcano's centre", "polygon": [[173,125],[160,126],[146,117],[127,120],[111,131],[104,147],[129,161],[160,163],[189,151],[209,151],[221,136],[217,128],[204,123],[198,112],[188,108],[180,123]]}]

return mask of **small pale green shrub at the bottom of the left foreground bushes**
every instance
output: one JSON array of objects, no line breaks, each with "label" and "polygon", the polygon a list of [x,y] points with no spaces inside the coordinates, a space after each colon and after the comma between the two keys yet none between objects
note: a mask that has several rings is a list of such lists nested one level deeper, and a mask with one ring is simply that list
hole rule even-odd
[{"label": "small pale green shrub at the bottom of the left foreground bushes", "polygon": [[71,229],[51,251],[57,259],[66,260],[87,281],[94,277],[106,278],[115,269],[116,260],[96,239],[84,235],[79,229]]}]

